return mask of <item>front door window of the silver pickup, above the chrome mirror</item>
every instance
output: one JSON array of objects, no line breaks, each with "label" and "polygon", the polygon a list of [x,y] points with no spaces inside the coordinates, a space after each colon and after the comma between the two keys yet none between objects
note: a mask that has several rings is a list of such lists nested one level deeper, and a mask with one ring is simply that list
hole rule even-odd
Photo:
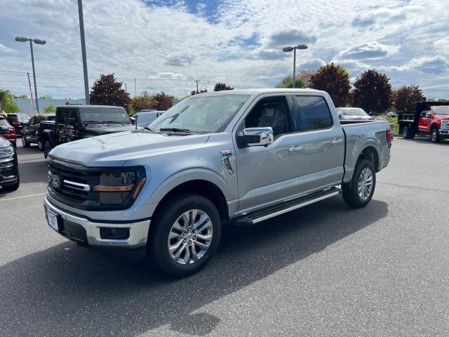
[{"label": "front door window of the silver pickup, above the chrome mirror", "polygon": [[246,128],[273,128],[274,136],[289,132],[286,105],[281,99],[261,100],[245,119]]}]

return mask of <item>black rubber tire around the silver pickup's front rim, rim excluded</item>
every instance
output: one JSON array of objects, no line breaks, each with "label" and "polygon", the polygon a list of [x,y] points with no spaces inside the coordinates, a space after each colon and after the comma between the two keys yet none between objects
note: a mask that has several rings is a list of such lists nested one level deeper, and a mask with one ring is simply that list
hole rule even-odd
[{"label": "black rubber tire around the silver pickup's front rim, rim excluded", "polygon": [[[199,210],[206,213],[212,223],[213,234],[206,253],[199,260],[194,263],[180,264],[170,256],[170,252],[168,251],[168,235],[172,231],[173,225],[177,223],[177,219],[183,213],[190,210]],[[170,198],[156,210],[156,214],[152,218],[147,242],[147,262],[170,277],[187,277],[192,275],[201,270],[208,263],[210,256],[217,250],[218,244],[220,243],[221,229],[220,214],[209,199],[199,194],[187,193]],[[182,235],[184,235],[184,232],[182,232]],[[174,240],[180,239],[175,238]],[[197,248],[195,244],[192,247],[187,246],[186,250]]]}]

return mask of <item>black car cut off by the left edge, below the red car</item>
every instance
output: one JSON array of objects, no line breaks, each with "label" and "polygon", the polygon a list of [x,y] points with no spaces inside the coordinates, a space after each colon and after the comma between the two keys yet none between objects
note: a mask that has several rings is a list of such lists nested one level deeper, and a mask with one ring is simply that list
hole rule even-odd
[{"label": "black car cut off by the left edge, below the red car", "polygon": [[17,150],[9,140],[0,136],[0,187],[1,191],[15,191],[19,188],[20,176]]}]

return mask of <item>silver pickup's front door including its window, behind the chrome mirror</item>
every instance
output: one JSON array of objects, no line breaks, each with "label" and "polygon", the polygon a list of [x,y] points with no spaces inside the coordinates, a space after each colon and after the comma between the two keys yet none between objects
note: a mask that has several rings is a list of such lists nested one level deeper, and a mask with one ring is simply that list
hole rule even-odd
[{"label": "silver pickup's front door including its window, behind the chrome mirror", "polygon": [[302,192],[304,151],[293,124],[286,96],[261,98],[253,103],[243,128],[271,126],[274,142],[267,147],[236,147],[239,210],[248,213]]}]

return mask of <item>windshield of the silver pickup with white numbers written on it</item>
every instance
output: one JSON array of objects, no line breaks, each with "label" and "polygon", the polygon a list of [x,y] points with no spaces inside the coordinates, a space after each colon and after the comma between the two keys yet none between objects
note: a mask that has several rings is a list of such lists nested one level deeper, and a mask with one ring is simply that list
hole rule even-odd
[{"label": "windshield of the silver pickup with white numbers written on it", "polygon": [[192,96],[149,124],[151,130],[185,129],[197,133],[221,132],[239,112],[249,95]]}]

